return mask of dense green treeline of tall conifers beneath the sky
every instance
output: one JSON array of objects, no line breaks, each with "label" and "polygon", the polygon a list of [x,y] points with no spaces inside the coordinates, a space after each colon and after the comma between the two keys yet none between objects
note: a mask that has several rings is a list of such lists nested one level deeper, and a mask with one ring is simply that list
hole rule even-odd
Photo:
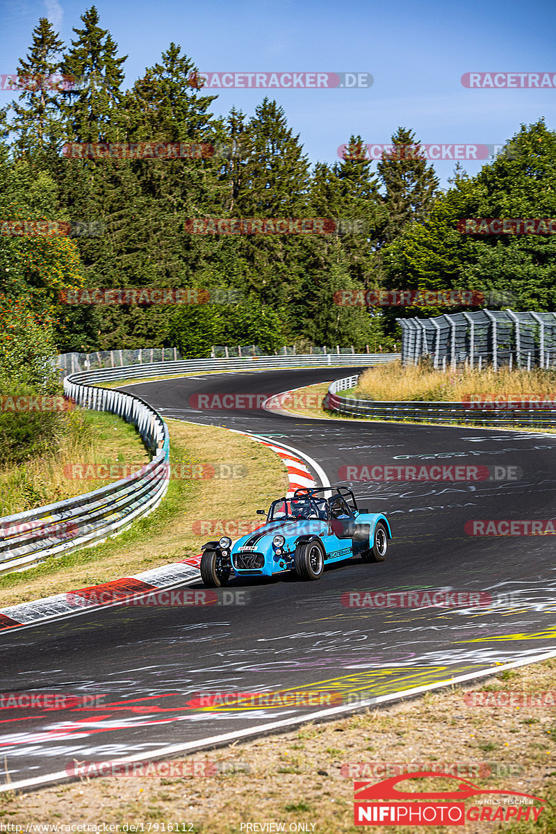
[{"label": "dense green treeline of tall conifers beneath the sky", "polygon": [[[449,311],[340,306],[334,294],[345,289],[510,291],[514,309],[556,309],[553,236],[481,238],[457,229],[469,217],[556,217],[556,134],[542,120],[522,126],[512,153],[476,177],[457,170],[445,193],[432,166],[403,150],[384,155],[374,171],[358,135],[348,138],[342,160],[312,168],[276,102],[264,98],[251,116],[234,108],[215,117],[216,96],[174,43],[126,89],[127,56],[100,27],[97,9],[81,20],[66,45],[40,19],[18,64],[24,83],[0,113],[2,221],[103,229],[74,238],[0,234],[0,291],[52,329],[60,352],[177,346],[203,356],[211,344],[252,343],[386,348],[397,338],[397,315]],[[51,83],[60,77],[80,83]],[[218,152],[79,158],[64,153],[68,143],[182,143]],[[398,128],[392,143],[414,148],[417,140]],[[185,220],[203,218],[357,219],[366,231],[186,232]],[[234,300],[61,303],[61,290],[83,286],[197,287]]]}]

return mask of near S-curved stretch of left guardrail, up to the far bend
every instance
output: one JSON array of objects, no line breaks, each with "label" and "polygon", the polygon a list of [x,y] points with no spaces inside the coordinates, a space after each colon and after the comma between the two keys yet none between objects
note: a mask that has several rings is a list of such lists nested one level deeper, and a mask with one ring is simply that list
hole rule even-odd
[{"label": "near S-curved stretch of left guardrail, up to the far bend", "polygon": [[122,532],[133,520],[148,515],[168,489],[168,427],[157,411],[132,394],[95,388],[72,377],[64,380],[63,387],[76,404],[133,423],[153,459],[100,490],[0,518],[0,574],[24,570]]}]

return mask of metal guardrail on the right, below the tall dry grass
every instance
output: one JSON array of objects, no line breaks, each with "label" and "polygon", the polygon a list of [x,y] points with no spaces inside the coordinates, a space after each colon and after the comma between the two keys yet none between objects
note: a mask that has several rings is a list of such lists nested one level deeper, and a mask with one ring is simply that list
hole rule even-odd
[{"label": "metal guardrail on the right, below the tall dry grass", "polygon": [[343,397],[339,391],[354,388],[358,375],[335,379],[328,386],[326,408],[338,414],[372,420],[410,420],[413,423],[465,423],[468,425],[533,425],[548,427],[556,423],[556,409],[528,409],[498,406],[471,408],[465,403],[421,402],[416,400],[373,400]]}]

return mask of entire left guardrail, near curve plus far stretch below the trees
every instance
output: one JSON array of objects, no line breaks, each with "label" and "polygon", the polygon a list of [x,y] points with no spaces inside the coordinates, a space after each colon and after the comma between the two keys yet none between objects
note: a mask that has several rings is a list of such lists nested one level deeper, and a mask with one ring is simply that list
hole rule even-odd
[{"label": "entire left guardrail, near curve plus far stretch below the trees", "polygon": [[118,414],[137,426],[153,460],[133,475],[100,490],[0,518],[0,574],[24,570],[49,556],[92,545],[122,532],[133,520],[151,512],[168,489],[170,445],[168,427],[160,414],[140,397],[117,389],[98,388],[95,384],[183,376],[198,371],[367,366],[399,358],[399,354],[303,354],[183,359],[71,374],[64,379],[64,393],[84,408]]}]

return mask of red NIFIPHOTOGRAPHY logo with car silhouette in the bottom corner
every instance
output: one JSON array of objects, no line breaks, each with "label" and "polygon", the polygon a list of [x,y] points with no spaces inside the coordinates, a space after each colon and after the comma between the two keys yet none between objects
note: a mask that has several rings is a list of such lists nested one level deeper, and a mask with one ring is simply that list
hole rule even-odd
[{"label": "red NIFIPHOTOGRAPHY logo with car silhouette in the bottom corner", "polygon": [[[411,790],[412,779],[446,779],[445,791]],[[398,782],[407,783],[406,790]],[[392,776],[376,783],[353,782],[354,822],[356,826],[464,826],[466,821],[500,821],[529,819],[536,822],[543,799],[508,789],[483,791],[473,782],[448,773],[420,771]],[[479,798],[480,797],[480,798]],[[473,800],[466,809],[465,801]]]}]

